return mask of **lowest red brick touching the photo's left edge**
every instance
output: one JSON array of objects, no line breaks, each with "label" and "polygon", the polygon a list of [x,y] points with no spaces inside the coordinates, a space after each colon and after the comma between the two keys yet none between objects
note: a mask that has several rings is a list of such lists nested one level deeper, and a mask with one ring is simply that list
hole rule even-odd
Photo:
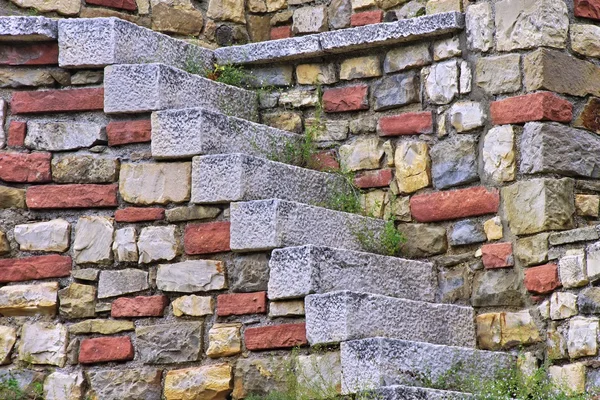
[{"label": "lowest red brick touching the photo's left edge", "polygon": [[0,282],[62,278],[71,275],[71,257],[37,256],[0,260]]}]

